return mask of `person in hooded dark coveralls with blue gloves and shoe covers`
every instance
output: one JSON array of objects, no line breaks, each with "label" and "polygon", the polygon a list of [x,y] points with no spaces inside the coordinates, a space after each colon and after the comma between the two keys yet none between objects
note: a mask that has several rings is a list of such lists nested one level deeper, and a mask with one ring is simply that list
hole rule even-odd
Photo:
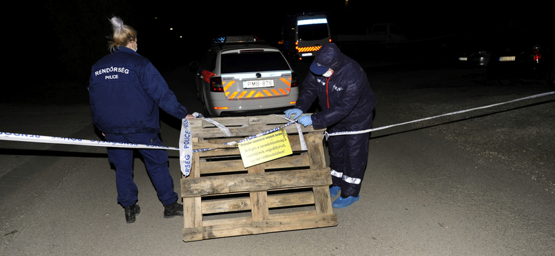
[{"label": "person in hooded dark coveralls with blue gloves and shoe covers", "polygon": [[[366,72],[333,44],[323,46],[310,66],[310,73],[302,82],[302,91],[294,109],[285,116],[295,116],[305,127],[327,127],[329,133],[361,131],[372,127],[375,94],[370,89]],[[318,98],[321,112],[301,116]],[[368,163],[370,134],[330,136],[330,169],[332,187],[330,195],[339,196],[334,208],[346,208],[359,200],[361,182]]]}]

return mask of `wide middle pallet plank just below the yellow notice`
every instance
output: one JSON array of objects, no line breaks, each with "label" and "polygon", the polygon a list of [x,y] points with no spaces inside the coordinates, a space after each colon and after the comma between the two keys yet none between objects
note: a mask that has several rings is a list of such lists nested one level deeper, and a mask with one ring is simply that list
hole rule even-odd
[{"label": "wide middle pallet plank just below the yellow notice", "polygon": [[330,184],[332,184],[330,168],[206,176],[181,179],[181,196],[194,197],[230,192],[257,192]]}]

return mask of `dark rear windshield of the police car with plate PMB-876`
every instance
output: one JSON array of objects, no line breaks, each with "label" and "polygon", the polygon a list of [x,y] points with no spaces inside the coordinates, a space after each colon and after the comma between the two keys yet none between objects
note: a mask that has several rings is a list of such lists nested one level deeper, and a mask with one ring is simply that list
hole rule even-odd
[{"label": "dark rear windshield of the police car with plate PMB-876", "polygon": [[280,52],[227,53],[221,55],[221,73],[289,70]]}]

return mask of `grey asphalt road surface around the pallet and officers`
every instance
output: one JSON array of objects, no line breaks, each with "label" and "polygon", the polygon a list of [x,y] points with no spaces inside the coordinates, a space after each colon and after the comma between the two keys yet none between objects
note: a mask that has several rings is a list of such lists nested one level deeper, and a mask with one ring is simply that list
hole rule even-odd
[{"label": "grey asphalt road surface around the pallet and officers", "polygon": [[[307,66],[296,67],[300,77]],[[478,69],[365,66],[378,99],[374,127],[548,91],[536,83],[495,86]],[[194,74],[186,67],[164,72],[180,102],[189,111],[200,111],[191,93]],[[99,139],[89,117],[86,85],[71,90],[67,84],[57,86],[63,88],[49,99],[39,94],[0,104],[0,131]],[[135,182],[142,212],[135,223],[126,224],[104,148],[0,140],[0,255],[554,255],[553,185],[524,170],[548,166],[549,177],[552,165],[543,159],[553,156],[553,144],[547,143],[543,154],[524,158],[530,162],[526,165],[473,150],[486,147],[479,143],[490,137],[486,131],[502,133],[493,124],[553,107],[551,97],[518,109],[375,131],[361,199],[334,209],[338,226],[187,243],[182,241],[182,218],[162,217],[162,205],[138,158]],[[553,126],[553,114],[534,113],[545,122],[528,125]],[[162,116],[164,145],[177,145],[179,125]],[[481,130],[465,133],[461,127]],[[513,139],[495,141],[509,145]],[[545,141],[527,137],[533,148]],[[499,147],[497,153],[502,150],[511,151]],[[178,155],[170,156],[178,191]]]}]

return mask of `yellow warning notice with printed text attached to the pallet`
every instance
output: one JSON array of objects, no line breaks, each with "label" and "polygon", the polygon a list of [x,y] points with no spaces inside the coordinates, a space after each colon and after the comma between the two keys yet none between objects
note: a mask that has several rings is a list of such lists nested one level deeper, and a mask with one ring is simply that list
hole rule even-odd
[{"label": "yellow warning notice with printed text attached to the pallet", "polygon": [[293,154],[285,130],[239,143],[239,152],[245,168]]}]

